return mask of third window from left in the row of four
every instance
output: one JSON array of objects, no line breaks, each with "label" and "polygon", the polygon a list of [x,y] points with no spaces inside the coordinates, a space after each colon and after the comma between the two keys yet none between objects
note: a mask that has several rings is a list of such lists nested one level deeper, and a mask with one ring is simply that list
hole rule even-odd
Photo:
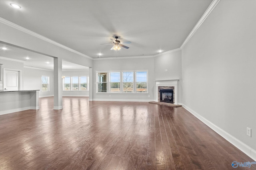
[{"label": "third window from left in the row of four", "polygon": [[133,93],[133,72],[122,72],[123,93]]}]

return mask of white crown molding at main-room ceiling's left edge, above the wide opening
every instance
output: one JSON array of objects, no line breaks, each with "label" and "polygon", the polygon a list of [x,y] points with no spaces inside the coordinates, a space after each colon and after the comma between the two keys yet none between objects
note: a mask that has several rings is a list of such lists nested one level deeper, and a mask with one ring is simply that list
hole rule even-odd
[{"label": "white crown molding at main-room ceiling's left edge, above the wide opening", "polygon": [[12,22],[10,22],[10,21],[8,21],[8,20],[5,20],[4,18],[1,18],[1,17],[0,17],[0,22],[1,22],[1,23],[4,23],[5,25],[8,25],[8,26],[10,26],[10,27],[13,27],[13,28],[15,28],[15,29],[18,29],[18,30],[20,30],[20,31],[22,31],[22,32],[24,32],[24,33],[27,33],[27,34],[30,34],[30,35],[32,35],[32,36],[34,36],[34,37],[37,37],[37,38],[39,38],[39,39],[42,39],[42,40],[44,40],[44,41],[46,41],[46,42],[48,42],[48,43],[52,43],[52,44],[54,44],[54,45],[56,45],[56,46],[58,46],[58,47],[61,47],[61,48],[63,48],[63,49],[66,49],[66,50],[68,50],[68,51],[71,51],[71,52],[73,52],[73,53],[76,53],[76,54],[81,55],[81,56],[83,56],[83,57],[86,57],[86,58],[88,58],[88,59],[92,59],[92,57],[89,57],[88,55],[85,55],[85,54],[80,53],[80,52],[78,52],[78,51],[76,51],[76,50],[73,50],[73,49],[71,49],[71,48],[69,48],[69,47],[66,47],[65,45],[62,45],[62,44],[60,44],[60,43],[57,43],[56,41],[53,41],[53,40],[51,40],[51,39],[49,39],[49,38],[46,38],[46,37],[44,37],[44,36],[42,36],[42,35],[40,35],[40,34],[38,34],[38,33],[35,33],[35,32],[33,32],[33,31],[30,31],[29,29],[26,29],[26,28],[24,28],[24,27],[21,27],[20,25],[17,25],[17,24],[12,23]]}]

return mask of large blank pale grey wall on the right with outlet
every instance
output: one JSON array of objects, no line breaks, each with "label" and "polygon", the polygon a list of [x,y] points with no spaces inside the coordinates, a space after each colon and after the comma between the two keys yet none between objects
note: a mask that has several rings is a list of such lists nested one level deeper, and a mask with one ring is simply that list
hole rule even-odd
[{"label": "large blank pale grey wall on the right with outlet", "polygon": [[182,49],[184,106],[254,159],[255,7],[256,1],[220,1]]}]

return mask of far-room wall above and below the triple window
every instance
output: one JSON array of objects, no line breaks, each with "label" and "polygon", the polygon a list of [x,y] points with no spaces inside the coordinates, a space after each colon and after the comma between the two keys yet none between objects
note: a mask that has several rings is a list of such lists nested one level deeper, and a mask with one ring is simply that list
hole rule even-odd
[{"label": "far-room wall above and below the triple window", "polygon": [[[89,76],[89,70],[62,70],[62,76]],[[63,91],[62,96],[89,96],[89,91]]]}]

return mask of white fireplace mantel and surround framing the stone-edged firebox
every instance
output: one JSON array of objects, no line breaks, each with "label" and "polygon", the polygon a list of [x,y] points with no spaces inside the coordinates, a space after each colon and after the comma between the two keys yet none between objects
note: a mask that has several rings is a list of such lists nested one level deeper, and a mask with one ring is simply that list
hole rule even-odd
[{"label": "white fireplace mantel and surround framing the stone-edged firebox", "polygon": [[158,86],[174,86],[174,104],[178,104],[178,81],[174,80],[154,80],[156,82],[155,102],[158,102]]}]

